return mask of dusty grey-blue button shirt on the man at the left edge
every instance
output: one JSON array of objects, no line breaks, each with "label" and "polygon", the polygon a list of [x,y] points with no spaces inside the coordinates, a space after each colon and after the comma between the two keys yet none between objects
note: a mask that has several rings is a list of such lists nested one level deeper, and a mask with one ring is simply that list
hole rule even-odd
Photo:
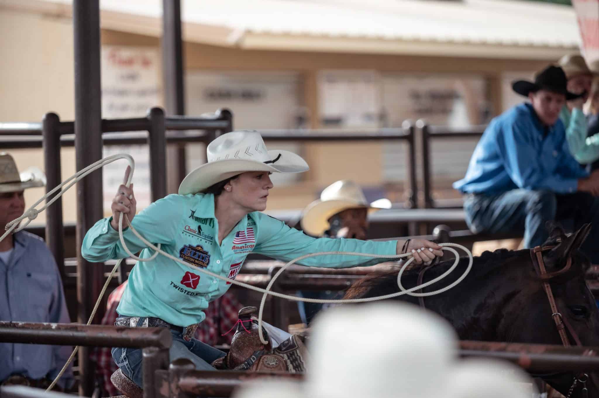
[{"label": "dusty grey-blue button shirt on the man at the left edge", "polygon": [[[0,259],[0,321],[70,323],[62,280],[44,241],[29,232],[13,235],[8,263]],[[12,374],[54,379],[72,347],[0,343],[0,381]],[[72,384],[72,365],[59,385]]]}]

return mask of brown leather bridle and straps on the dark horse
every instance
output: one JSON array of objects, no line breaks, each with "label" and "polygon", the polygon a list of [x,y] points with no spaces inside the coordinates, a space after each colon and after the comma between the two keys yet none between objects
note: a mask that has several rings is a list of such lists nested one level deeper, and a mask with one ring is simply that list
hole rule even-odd
[{"label": "brown leather bridle and straps on the dark horse", "polygon": [[[568,339],[568,335],[565,332],[565,329],[567,329],[568,332],[570,332],[570,335],[572,336],[572,338],[574,339],[574,342],[576,342],[576,345],[582,346],[582,343],[580,342],[580,338],[578,337],[576,331],[574,331],[573,327],[570,325],[567,318],[564,318],[562,316],[561,312],[559,312],[558,305],[555,302],[555,297],[553,297],[553,291],[551,290],[551,285],[549,284],[550,279],[559,277],[560,275],[563,275],[566,272],[570,271],[570,268],[572,266],[572,257],[568,256],[568,259],[565,263],[564,268],[560,269],[559,271],[555,271],[555,272],[547,272],[547,269],[545,268],[545,262],[543,260],[543,251],[552,250],[553,248],[555,248],[555,246],[545,246],[545,247],[537,246],[535,248],[532,248],[530,250],[530,256],[531,256],[531,259],[533,260],[533,267],[534,267],[535,271],[537,272],[537,275],[539,275],[539,278],[541,279],[541,281],[543,281],[543,289],[545,291],[545,294],[547,295],[547,299],[549,299],[549,306],[550,306],[551,312],[552,312],[551,318],[555,322],[555,327],[558,330],[559,337],[561,338],[562,344],[564,345],[564,347],[571,347],[570,339]],[[424,274],[425,274],[426,270],[429,268],[431,268],[431,267],[425,266],[420,270],[420,272],[418,274],[418,281],[416,282],[417,285],[422,284],[422,281],[424,279]],[[418,292],[422,293],[422,289],[419,289]],[[419,296],[418,302],[420,303],[420,307],[422,307],[423,309],[426,308],[424,305],[424,297]],[[586,388],[587,380],[588,380],[588,375],[586,373],[580,373],[579,375],[574,376],[574,380],[572,382],[572,385],[570,387],[570,390],[568,391],[568,395],[566,396],[566,398],[572,397],[572,394],[574,393],[574,389],[577,387],[577,385],[579,383],[582,386],[582,396],[588,397],[588,390]]]}]

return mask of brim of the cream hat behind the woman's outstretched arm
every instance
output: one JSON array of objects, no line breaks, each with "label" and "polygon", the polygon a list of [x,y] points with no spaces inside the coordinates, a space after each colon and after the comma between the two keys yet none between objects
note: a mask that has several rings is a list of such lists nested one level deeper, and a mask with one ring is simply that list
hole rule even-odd
[{"label": "brim of the cream hat behind the woman's outstretched arm", "polygon": [[302,230],[308,235],[320,236],[331,227],[328,219],[340,211],[355,208],[367,208],[368,214],[371,214],[375,211],[389,208],[388,206],[373,206],[373,203],[365,205],[364,203],[352,200],[317,199],[306,206],[299,223],[301,224]]}]

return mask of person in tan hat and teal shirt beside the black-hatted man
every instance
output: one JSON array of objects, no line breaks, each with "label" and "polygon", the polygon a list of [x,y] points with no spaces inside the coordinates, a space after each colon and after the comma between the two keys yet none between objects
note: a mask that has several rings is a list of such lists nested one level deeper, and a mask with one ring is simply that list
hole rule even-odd
[{"label": "person in tan hat and teal shirt beside the black-hatted man", "polygon": [[570,147],[570,153],[580,164],[587,165],[599,159],[599,142],[587,140],[588,123],[582,107],[589,99],[594,73],[586,65],[580,55],[565,55],[559,60],[559,66],[564,69],[568,80],[568,92],[579,94],[578,98],[566,101],[559,113],[559,119],[564,123],[565,137]]}]

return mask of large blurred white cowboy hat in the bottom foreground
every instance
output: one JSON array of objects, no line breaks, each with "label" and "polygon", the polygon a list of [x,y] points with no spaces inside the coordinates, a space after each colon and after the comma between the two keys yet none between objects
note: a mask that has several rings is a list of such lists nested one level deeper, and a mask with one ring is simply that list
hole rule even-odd
[{"label": "large blurred white cowboy hat in the bottom foreground", "polygon": [[[524,398],[530,377],[495,360],[459,360],[458,336],[439,315],[405,302],[338,306],[310,335],[303,381],[257,379],[235,398]],[[285,391],[282,394],[282,391]]]}]

